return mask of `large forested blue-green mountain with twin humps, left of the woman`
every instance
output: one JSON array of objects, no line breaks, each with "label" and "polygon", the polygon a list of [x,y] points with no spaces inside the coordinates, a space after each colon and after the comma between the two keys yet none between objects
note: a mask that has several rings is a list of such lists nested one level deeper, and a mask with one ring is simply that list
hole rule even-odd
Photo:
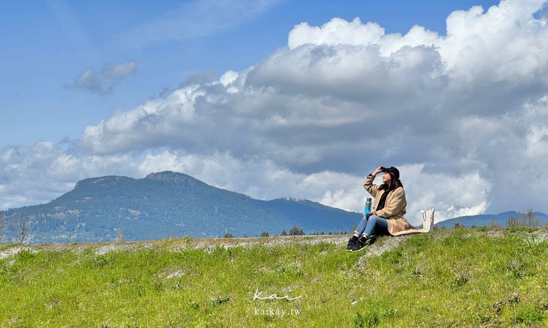
[{"label": "large forested blue-green mountain with twin humps, left of the woman", "polygon": [[306,234],[349,231],[362,215],[308,200],[252,199],[177,172],[145,178],[89,178],[49,203],[5,211],[4,218],[32,217],[30,242],[125,241],[169,236],[271,235],[297,225]]}]

